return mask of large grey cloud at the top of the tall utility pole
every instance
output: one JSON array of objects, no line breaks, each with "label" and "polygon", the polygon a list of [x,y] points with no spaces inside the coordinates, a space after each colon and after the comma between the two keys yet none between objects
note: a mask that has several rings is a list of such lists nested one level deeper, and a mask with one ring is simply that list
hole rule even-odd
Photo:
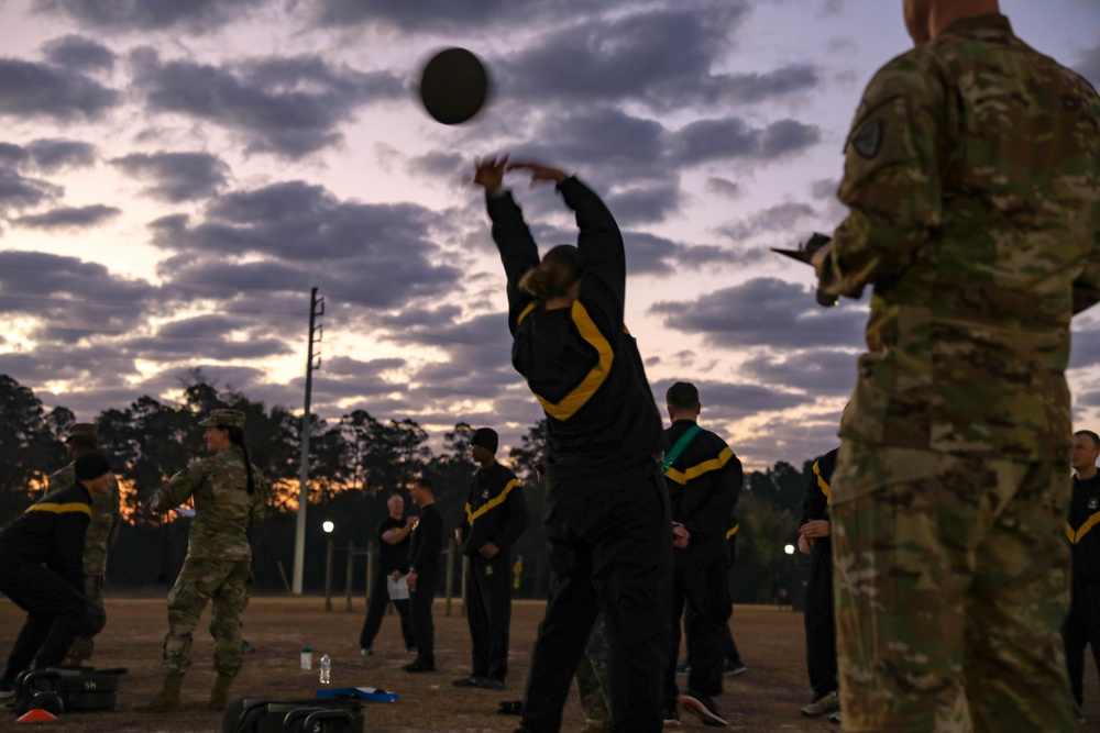
[{"label": "large grey cloud at the top of the tall utility pole", "polygon": [[150,230],[155,246],[177,253],[161,263],[161,276],[188,290],[316,285],[341,301],[388,309],[450,290],[460,276],[435,263],[446,218],[413,203],[340,201],[304,181],[227,193],[195,223],[175,214]]}]

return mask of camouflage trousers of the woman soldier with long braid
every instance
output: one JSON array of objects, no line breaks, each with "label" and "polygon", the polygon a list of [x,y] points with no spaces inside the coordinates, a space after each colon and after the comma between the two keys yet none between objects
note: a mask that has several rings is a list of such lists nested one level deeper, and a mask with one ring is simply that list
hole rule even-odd
[{"label": "camouflage trousers of the woman soldier with long braid", "polygon": [[241,651],[241,614],[249,604],[252,563],[188,556],[176,585],[168,592],[168,635],[164,638],[161,671],[183,675],[191,664],[191,634],[202,609],[213,601],[210,635],[213,636],[213,668],[235,677],[244,664]]}]

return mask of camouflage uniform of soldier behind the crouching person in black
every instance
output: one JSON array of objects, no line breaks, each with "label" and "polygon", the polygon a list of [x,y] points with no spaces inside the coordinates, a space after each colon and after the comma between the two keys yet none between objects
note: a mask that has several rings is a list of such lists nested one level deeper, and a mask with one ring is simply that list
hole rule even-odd
[{"label": "camouflage uniform of soldier behind the crouching person in black", "polygon": [[[69,464],[50,476],[46,493],[59,491],[74,484],[76,484],[76,470],[73,464]],[[111,492],[91,498],[91,522],[84,535],[84,597],[99,604],[103,603],[107,554],[119,538],[119,529],[122,526],[120,504],[119,481],[114,474],[111,474]],[[73,641],[66,664],[80,664],[91,657],[94,649],[95,640],[91,636],[77,636]]]}]

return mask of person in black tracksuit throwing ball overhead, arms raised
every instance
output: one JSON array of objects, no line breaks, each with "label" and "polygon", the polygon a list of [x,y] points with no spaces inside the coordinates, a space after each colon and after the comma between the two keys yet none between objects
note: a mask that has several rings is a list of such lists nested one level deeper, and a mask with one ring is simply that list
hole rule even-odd
[{"label": "person in black tracksuit throwing ball overhead, arms raised", "polygon": [[[556,186],[576,245],[540,260],[508,170]],[[609,637],[613,731],[659,731],[671,635],[672,533],[661,418],[623,322],[626,257],[607,207],[558,168],[477,162],[507,275],[512,362],[549,425],[546,525],[554,581],[531,654],[521,731],[558,731],[597,610]]]}]

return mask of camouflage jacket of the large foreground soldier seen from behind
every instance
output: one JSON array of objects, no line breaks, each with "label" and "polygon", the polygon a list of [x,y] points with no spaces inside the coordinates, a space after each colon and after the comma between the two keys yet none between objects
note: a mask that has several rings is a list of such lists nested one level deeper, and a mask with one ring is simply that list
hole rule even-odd
[{"label": "camouflage jacket of the large foreground soldier seen from behind", "polygon": [[872,285],[840,435],[1066,462],[1069,322],[1100,300],[1100,99],[999,14],[871,80],[820,295]]}]

